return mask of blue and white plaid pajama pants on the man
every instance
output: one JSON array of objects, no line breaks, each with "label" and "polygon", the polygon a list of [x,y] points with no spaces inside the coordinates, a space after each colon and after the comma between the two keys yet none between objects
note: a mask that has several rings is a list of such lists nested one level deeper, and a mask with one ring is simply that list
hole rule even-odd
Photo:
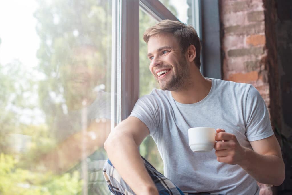
[{"label": "blue and white plaid pajama pants on the man", "polygon": [[[158,172],[148,161],[141,156],[144,161],[144,165],[156,185],[159,195],[215,195],[208,192],[200,193],[184,193],[178,187],[175,186],[169,179]],[[126,182],[121,178],[117,170],[114,168],[109,159],[105,162],[103,166],[103,175],[107,181],[107,186],[109,190],[116,195],[135,195],[133,190],[126,184]],[[222,195],[222,194],[217,194]]]}]

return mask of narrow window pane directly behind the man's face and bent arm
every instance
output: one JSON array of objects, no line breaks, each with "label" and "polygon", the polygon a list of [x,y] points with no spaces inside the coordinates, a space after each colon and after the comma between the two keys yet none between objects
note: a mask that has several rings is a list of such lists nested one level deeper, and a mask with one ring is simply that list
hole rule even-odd
[{"label": "narrow window pane directly behind the man's face and bent arm", "polygon": [[[139,12],[140,25],[140,97],[150,94],[152,89],[159,89],[158,82],[154,79],[149,70],[149,59],[147,58],[147,44],[143,40],[143,33],[148,27],[157,23],[147,13],[140,9]],[[163,161],[157,150],[157,146],[151,136],[148,136],[140,145],[141,155],[149,161],[159,172],[163,173]]]}]

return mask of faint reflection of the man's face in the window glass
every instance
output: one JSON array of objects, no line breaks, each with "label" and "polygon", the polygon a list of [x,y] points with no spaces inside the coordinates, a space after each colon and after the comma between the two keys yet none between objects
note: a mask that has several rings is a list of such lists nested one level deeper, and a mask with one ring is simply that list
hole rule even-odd
[{"label": "faint reflection of the man's face in the window glass", "polygon": [[[80,48],[72,52],[68,63],[60,67],[60,77],[64,87],[64,97],[70,109],[79,109],[83,100],[91,102],[96,98],[93,90],[98,84],[105,83],[104,66],[99,65],[98,51]],[[103,71],[102,71],[103,70]]]}]

